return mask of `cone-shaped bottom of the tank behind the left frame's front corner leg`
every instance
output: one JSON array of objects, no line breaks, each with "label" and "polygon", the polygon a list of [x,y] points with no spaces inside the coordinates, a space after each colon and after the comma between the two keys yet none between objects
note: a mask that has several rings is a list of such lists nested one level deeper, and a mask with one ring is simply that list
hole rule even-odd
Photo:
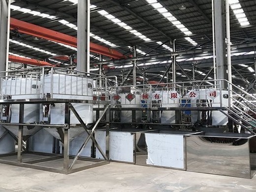
[{"label": "cone-shaped bottom of the tank behind the left frame's front corner leg", "polygon": [[[48,131],[52,136],[56,139],[59,139],[62,143],[64,143],[64,128],[49,128],[43,127],[46,131]],[[83,127],[70,127],[69,128],[69,142],[76,138],[78,135],[82,134],[85,131]]]}]

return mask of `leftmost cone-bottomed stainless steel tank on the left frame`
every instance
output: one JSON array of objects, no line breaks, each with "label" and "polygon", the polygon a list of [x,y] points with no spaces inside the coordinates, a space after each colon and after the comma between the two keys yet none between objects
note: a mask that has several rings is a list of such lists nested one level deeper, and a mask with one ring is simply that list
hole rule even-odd
[{"label": "leftmost cone-bottomed stainless steel tank on the left frame", "polygon": [[[10,78],[3,80],[1,83],[1,94],[5,99],[40,98],[40,80],[31,78]],[[4,112],[1,113],[2,122],[19,123],[19,104],[6,104],[3,108]],[[31,124],[31,126],[24,126],[23,139],[26,141],[41,129],[38,126],[32,125],[39,123],[39,104],[24,105],[23,123]],[[4,125],[4,128],[18,136],[19,126]]]}]

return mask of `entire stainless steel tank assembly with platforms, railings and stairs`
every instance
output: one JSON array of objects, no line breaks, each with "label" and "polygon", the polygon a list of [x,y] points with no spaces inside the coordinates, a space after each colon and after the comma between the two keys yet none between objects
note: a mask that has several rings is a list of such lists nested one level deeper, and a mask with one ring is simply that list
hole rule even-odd
[{"label": "entire stainless steel tank assembly with platforms, railings and stairs", "polygon": [[[235,85],[229,89],[225,80],[98,88],[106,77],[81,73],[38,67],[2,77],[0,162],[66,174],[113,160],[254,175],[256,112],[246,105],[254,96]],[[228,86],[220,89],[221,84]],[[237,125],[248,133],[234,133]],[[216,162],[226,157],[246,161],[231,166],[236,173],[229,163],[218,169]],[[204,168],[194,166],[199,162]]]}]

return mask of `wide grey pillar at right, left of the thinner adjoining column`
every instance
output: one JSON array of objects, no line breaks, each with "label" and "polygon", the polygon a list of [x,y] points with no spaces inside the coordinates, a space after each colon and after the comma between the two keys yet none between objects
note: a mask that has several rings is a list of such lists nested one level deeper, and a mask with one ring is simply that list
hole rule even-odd
[{"label": "wide grey pillar at right, left of the thinner adjoining column", "polygon": [[[227,79],[225,61],[225,8],[224,0],[214,0],[214,23],[215,23],[215,45],[216,45],[216,67],[217,80]],[[224,88],[224,87],[222,87]]]}]

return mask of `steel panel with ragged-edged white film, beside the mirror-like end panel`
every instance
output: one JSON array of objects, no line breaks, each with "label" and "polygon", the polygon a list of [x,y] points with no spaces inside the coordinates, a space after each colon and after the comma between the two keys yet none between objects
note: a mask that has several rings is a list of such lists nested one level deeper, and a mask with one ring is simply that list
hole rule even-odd
[{"label": "steel panel with ragged-edged white film, beside the mirror-like end panel", "polygon": [[182,133],[179,135],[136,133],[135,164],[184,170],[186,168],[184,146]]}]

